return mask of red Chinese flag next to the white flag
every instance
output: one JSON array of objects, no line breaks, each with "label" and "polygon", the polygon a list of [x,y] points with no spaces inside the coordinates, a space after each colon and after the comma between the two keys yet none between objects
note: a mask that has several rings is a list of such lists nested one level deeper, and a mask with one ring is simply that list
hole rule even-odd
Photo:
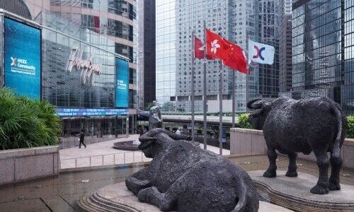
[{"label": "red Chinese flag next to the white flag", "polygon": [[247,69],[247,59],[244,50],[238,45],[224,39],[224,42],[229,46],[229,54],[226,59],[222,60],[224,66],[229,66],[231,69],[240,71],[242,73],[249,73]]}]

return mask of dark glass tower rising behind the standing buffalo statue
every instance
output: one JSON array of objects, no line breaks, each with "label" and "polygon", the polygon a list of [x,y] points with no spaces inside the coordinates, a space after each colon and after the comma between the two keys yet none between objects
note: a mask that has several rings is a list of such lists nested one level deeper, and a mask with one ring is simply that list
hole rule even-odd
[{"label": "dark glass tower rising behind the standing buffalo statue", "polygon": [[292,1],[293,98],[326,96],[353,114],[353,1]]}]

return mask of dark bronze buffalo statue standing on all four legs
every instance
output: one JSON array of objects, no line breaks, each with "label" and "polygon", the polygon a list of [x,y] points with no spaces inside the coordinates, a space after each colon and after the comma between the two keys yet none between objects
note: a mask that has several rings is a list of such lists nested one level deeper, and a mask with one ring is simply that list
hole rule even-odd
[{"label": "dark bronze buffalo statue standing on all four legs", "polygon": [[[346,117],[341,106],[328,98],[292,100],[278,98],[272,102],[251,100],[247,107],[256,110],[249,122],[263,129],[268,147],[269,167],[264,177],[276,177],[278,150],[289,157],[287,177],[297,177],[297,153],[308,155],[312,151],[319,166],[319,180],[311,189],[314,194],[328,194],[340,190],[341,147],[346,136]],[[331,153],[329,160],[327,152]],[[328,176],[331,162],[331,177]]]}]

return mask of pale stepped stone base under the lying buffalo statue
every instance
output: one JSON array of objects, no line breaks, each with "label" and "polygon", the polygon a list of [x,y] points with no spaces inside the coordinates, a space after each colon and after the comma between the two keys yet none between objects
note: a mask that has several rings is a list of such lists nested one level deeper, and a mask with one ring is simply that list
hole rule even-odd
[{"label": "pale stepped stone base under the lying buffalo statue", "polygon": [[[109,185],[98,189],[91,196],[85,196],[78,201],[82,211],[118,211],[118,212],[155,212],[156,206],[139,202],[137,196],[127,190],[125,183]],[[260,201],[259,212],[287,212],[286,208]]]}]

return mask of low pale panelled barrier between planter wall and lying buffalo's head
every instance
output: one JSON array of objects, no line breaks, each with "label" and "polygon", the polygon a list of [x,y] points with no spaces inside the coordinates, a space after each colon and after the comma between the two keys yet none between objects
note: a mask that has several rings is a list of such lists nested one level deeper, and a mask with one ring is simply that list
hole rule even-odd
[{"label": "low pale panelled barrier between planter wall and lying buffalo's head", "polygon": [[91,155],[81,158],[69,158],[60,160],[60,168],[95,167],[105,165],[124,165],[130,163],[149,162],[142,151],[131,151],[126,153],[115,153],[108,155]]}]

